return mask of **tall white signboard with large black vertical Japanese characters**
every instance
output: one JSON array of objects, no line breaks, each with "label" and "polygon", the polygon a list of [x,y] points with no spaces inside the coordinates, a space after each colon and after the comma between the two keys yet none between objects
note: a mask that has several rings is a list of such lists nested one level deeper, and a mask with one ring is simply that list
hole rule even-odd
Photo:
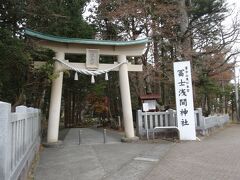
[{"label": "tall white signboard with large black vertical Japanese characters", "polygon": [[174,80],[180,140],[196,140],[192,77],[189,61],[174,63]]}]

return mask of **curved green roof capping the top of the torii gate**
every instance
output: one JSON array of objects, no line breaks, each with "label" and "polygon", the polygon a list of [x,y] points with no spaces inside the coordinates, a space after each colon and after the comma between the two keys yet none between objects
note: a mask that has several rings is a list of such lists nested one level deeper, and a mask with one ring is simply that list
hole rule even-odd
[{"label": "curved green roof capping the top of the torii gate", "polygon": [[75,44],[128,46],[128,45],[146,44],[147,42],[149,42],[148,38],[132,40],[132,41],[109,41],[109,40],[68,38],[68,37],[60,37],[60,36],[44,34],[41,32],[33,31],[31,29],[25,29],[25,34],[28,36],[31,36],[31,37],[44,39],[44,40],[48,40],[48,41],[54,41],[54,42],[60,42],[60,43],[75,43]]}]

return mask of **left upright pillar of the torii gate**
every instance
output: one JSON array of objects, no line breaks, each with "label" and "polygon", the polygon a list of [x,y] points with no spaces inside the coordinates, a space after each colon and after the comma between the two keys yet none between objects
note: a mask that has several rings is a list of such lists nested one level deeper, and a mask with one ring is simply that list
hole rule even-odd
[{"label": "left upright pillar of the torii gate", "polygon": [[[56,59],[63,60],[65,58],[64,55],[65,55],[64,52],[56,52]],[[60,108],[62,97],[62,82],[63,82],[63,72],[59,72],[60,68],[61,68],[60,63],[56,61],[54,65],[54,73],[57,73],[58,77],[52,81],[47,132],[48,143],[58,142]]]}]

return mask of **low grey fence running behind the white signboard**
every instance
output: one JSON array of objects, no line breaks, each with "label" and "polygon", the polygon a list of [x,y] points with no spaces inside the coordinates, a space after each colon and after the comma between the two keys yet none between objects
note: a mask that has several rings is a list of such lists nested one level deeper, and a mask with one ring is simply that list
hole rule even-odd
[{"label": "low grey fence running behind the white signboard", "polygon": [[[225,123],[229,122],[229,116],[227,114],[204,117],[201,108],[195,110],[194,114],[196,131],[200,132],[202,135],[207,134],[211,128],[223,126]],[[153,132],[155,127],[168,126],[178,126],[176,111],[172,109],[165,112],[146,113],[141,110],[137,111],[137,134],[140,137],[146,135],[147,131]]]}]

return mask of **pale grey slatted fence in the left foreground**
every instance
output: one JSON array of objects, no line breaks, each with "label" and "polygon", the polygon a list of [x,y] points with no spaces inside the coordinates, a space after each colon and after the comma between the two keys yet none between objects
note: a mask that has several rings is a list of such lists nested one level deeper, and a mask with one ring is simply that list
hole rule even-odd
[{"label": "pale grey slatted fence in the left foreground", "polygon": [[22,179],[40,144],[40,110],[0,101],[0,179]]}]

